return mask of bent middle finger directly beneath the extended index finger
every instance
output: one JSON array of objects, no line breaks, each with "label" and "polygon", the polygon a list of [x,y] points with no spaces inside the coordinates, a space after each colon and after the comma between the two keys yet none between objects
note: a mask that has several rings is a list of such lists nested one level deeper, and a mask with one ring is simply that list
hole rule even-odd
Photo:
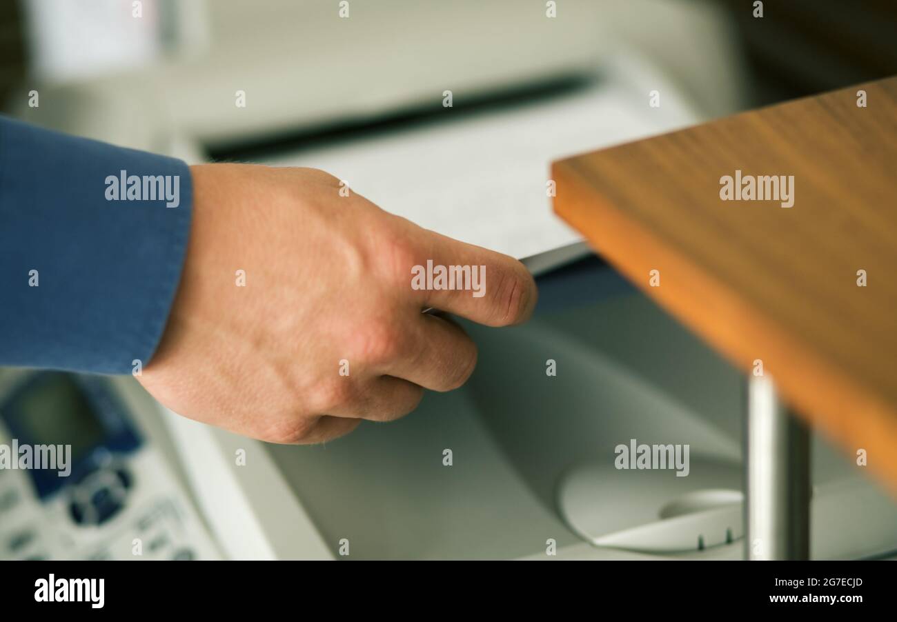
[{"label": "bent middle finger directly beneath the extended index finger", "polygon": [[465,384],[476,367],[476,344],[464,329],[436,315],[415,318],[414,355],[393,360],[386,373],[432,391],[451,391]]}]

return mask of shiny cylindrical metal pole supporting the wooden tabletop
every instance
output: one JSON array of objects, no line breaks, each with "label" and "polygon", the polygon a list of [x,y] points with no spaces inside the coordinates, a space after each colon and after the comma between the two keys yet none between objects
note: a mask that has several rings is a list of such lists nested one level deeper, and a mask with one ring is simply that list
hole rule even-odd
[{"label": "shiny cylindrical metal pole supporting the wooden tabletop", "polygon": [[810,558],[810,432],[766,376],[750,376],[745,558]]}]

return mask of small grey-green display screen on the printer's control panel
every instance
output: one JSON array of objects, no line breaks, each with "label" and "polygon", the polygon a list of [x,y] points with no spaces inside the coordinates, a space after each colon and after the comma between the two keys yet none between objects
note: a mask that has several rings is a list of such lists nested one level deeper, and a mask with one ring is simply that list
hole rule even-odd
[{"label": "small grey-green display screen on the printer's control panel", "polygon": [[9,405],[10,424],[20,443],[72,445],[72,460],[100,444],[105,430],[81,388],[70,376],[52,374]]}]

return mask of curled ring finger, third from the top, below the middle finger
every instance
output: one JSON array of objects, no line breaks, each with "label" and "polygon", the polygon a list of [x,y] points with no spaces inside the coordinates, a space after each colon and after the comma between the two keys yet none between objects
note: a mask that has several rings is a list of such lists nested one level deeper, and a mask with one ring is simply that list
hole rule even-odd
[{"label": "curled ring finger, third from the top, below the middle finger", "polygon": [[417,384],[394,376],[374,376],[356,384],[351,403],[329,410],[329,414],[345,419],[394,421],[417,408],[423,389]]}]

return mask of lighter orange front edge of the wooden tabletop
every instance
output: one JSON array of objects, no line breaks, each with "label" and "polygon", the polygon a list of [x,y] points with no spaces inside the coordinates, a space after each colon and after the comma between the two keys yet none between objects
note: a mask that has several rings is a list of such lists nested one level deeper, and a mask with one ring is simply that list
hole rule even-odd
[{"label": "lighter orange front edge of the wooden tabletop", "polygon": [[[782,331],[763,316],[762,309],[752,307],[729,283],[701,271],[690,263],[687,254],[669,247],[644,223],[614,207],[599,188],[589,183],[575,158],[553,162],[552,178],[556,184],[554,212],[583,233],[593,249],[636,287],[709,342],[735,367],[750,373],[754,360],[762,359],[773,376],[775,369],[787,368],[812,374],[814,384],[822,386],[822,390],[808,390],[806,383],[789,374],[776,376],[786,401],[849,454],[865,449],[868,455],[875,456],[874,461],[869,461],[871,470],[897,494],[897,452],[890,443],[890,439],[897,438],[897,410],[893,410],[890,402],[870,387],[861,386],[856,379],[842,374],[828,359],[815,356],[813,344],[797,341],[794,335]],[[650,248],[653,255],[664,256],[661,263],[666,281],[662,281],[661,287],[650,287],[651,267],[631,254],[632,247]],[[703,298],[715,302],[709,307],[692,305],[685,297],[676,295],[676,290],[681,288],[713,292],[712,296]],[[714,314],[718,315],[717,321],[713,320]],[[742,336],[730,337],[733,331],[741,332]],[[752,337],[745,340],[744,333],[751,333]],[[756,341],[775,345],[753,353],[741,345]],[[845,423],[845,412],[851,413],[850,425]]]}]

